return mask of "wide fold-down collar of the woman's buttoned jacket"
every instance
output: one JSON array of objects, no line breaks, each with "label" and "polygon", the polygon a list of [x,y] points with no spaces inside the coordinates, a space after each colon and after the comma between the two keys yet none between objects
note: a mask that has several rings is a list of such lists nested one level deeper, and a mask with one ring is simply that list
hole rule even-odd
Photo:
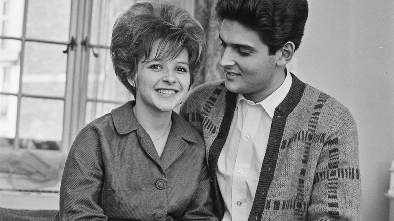
[{"label": "wide fold-down collar of the woman's buttoned jacket", "polygon": [[[132,100],[111,111],[111,116],[116,131],[121,135],[128,134],[134,130],[137,130],[139,127],[142,127],[134,115],[134,106],[135,100]],[[174,129],[176,135],[189,142],[197,142],[190,124],[174,111],[171,114],[171,120],[171,128]]]}]

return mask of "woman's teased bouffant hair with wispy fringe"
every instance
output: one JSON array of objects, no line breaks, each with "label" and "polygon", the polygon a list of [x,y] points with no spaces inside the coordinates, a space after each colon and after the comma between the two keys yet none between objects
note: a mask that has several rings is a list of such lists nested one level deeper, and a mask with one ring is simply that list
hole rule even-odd
[{"label": "woman's teased bouffant hair with wispy fringe", "polygon": [[135,85],[127,79],[136,81],[138,63],[150,57],[156,40],[159,45],[154,60],[171,60],[187,50],[190,86],[205,58],[204,29],[185,9],[161,1],[134,4],[115,21],[110,46],[115,74],[134,97]]}]

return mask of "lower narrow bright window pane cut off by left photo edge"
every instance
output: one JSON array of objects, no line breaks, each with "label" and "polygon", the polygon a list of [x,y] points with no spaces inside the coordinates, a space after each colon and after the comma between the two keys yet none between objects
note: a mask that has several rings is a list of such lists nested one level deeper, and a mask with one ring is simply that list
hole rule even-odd
[{"label": "lower narrow bright window pane cut off by left photo edge", "polygon": [[12,148],[16,131],[18,98],[0,95],[0,148]]}]

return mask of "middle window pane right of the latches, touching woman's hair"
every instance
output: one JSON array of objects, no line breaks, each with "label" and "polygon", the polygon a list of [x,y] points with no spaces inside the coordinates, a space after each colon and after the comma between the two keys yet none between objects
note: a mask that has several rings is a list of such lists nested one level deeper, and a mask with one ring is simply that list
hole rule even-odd
[{"label": "middle window pane right of the latches, touching woman's hair", "polygon": [[91,56],[89,61],[88,98],[118,102],[130,100],[131,93],[115,75],[109,50],[95,50],[98,52],[98,57]]}]

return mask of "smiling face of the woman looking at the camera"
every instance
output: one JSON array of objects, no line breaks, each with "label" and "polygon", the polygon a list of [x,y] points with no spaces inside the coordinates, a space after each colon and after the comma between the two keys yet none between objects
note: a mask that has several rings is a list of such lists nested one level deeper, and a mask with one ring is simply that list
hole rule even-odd
[{"label": "smiling face of the woman looking at the camera", "polygon": [[138,63],[136,73],[136,105],[153,113],[172,111],[186,98],[190,86],[187,50],[171,60],[154,60],[158,44],[159,40],[154,41],[150,57]]}]

